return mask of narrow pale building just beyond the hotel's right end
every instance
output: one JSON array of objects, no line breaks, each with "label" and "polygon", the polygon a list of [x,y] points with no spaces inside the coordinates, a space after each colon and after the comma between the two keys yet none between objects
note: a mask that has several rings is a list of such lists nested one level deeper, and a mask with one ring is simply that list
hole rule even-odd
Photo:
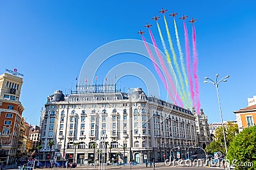
[{"label": "narrow pale building just beyond the hotel's right end", "polygon": [[197,143],[201,148],[205,148],[211,142],[211,134],[209,130],[208,118],[204,114],[204,110],[200,110],[200,114],[197,114],[195,110],[193,113],[196,117],[196,133]]}]

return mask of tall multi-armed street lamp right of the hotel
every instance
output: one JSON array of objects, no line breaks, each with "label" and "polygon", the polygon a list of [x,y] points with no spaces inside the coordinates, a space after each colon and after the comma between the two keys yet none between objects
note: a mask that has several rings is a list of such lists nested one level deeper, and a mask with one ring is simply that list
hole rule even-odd
[{"label": "tall multi-armed street lamp right of the hotel", "polygon": [[216,74],[216,81],[213,81],[211,78],[205,77],[205,80],[210,80],[210,81],[204,81],[204,83],[212,83],[216,87],[216,92],[217,92],[217,97],[218,97],[218,103],[219,103],[219,108],[220,108],[220,117],[221,117],[221,124],[222,124],[222,131],[223,131],[223,138],[224,138],[224,143],[225,143],[225,150],[226,150],[226,155],[228,155],[228,150],[227,150],[227,142],[226,142],[226,137],[225,137],[225,131],[224,131],[224,125],[223,125],[223,118],[222,118],[222,113],[221,113],[221,106],[220,106],[220,97],[219,97],[219,91],[218,91],[218,86],[222,81],[227,81],[228,76],[225,76],[221,78],[220,81],[218,81],[218,76],[219,74]]}]

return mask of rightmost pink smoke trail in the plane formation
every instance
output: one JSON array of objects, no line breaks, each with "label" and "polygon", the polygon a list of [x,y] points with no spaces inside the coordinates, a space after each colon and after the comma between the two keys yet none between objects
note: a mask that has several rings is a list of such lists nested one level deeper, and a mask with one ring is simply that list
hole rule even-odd
[{"label": "rightmost pink smoke trail in the plane formation", "polygon": [[196,111],[200,114],[200,99],[199,99],[199,80],[197,76],[197,50],[196,50],[196,34],[195,34],[195,25],[193,24],[193,74],[195,79],[195,93],[196,93]]}]

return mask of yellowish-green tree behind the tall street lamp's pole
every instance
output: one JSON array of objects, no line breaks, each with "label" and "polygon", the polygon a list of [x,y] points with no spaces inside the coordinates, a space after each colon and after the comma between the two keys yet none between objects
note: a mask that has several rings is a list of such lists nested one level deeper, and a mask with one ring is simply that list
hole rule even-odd
[{"label": "yellowish-green tree behind the tall street lamp's pole", "polygon": [[[231,122],[228,122],[227,126],[224,126],[225,131],[225,137],[226,137],[226,143],[227,148],[230,145],[230,142],[235,138],[236,134],[238,134],[238,126],[237,124],[232,124]],[[215,131],[214,138],[216,140],[212,141],[205,150],[211,150],[211,153],[213,152],[221,152],[226,153],[225,151],[225,142],[223,137],[223,131],[222,126]]]}]

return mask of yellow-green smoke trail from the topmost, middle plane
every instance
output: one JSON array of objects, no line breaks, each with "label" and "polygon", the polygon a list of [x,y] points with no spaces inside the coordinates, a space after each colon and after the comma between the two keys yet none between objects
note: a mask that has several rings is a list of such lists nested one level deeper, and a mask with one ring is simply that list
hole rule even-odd
[{"label": "yellow-green smoke trail from the topmost, middle plane", "polygon": [[[171,38],[171,34],[170,34],[170,31],[169,31],[168,24],[166,22],[165,16],[164,16],[164,24],[165,24],[165,27],[166,27],[166,32],[167,32],[167,36],[168,36],[170,49],[171,49],[172,55],[173,55],[173,63],[174,63],[175,69],[176,69],[178,77],[179,77],[179,85],[181,86],[181,92],[179,91],[179,93],[182,94],[182,99],[185,102],[186,107],[188,107],[188,105],[189,105],[188,104],[188,96],[186,94],[184,81],[183,81],[183,78],[182,78],[182,74],[180,73],[179,64],[177,62],[177,56],[176,56],[175,50],[173,48],[172,38]],[[179,87],[179,85],[178,85],[178,87]]]}]

